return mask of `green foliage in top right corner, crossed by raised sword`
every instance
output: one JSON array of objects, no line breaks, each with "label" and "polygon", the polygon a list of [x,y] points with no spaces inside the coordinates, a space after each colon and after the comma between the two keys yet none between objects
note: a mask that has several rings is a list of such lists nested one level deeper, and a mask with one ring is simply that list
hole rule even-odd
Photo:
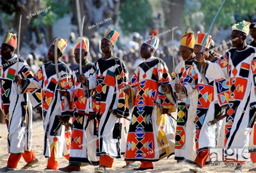
[{"label": "green foliage in top right corner, crossed by raised sword", "polygon": [[[185,4],[185,24],[190,26],[190,18],[192,13],[201,11],[204,13],[204,24],[210,26],[211,21],[219,9],[223,0],[187,0]],[[191,5],[191,4],[198,5]],[[217,19],[215,20],[215,26],[230,27],[235,22],[241,20],[250,21],[250,18],[255,15],[256,3],[255,0],[226,0],[223,8],[221,9]],[[206,27],[206,30],[208,27]]]}]

